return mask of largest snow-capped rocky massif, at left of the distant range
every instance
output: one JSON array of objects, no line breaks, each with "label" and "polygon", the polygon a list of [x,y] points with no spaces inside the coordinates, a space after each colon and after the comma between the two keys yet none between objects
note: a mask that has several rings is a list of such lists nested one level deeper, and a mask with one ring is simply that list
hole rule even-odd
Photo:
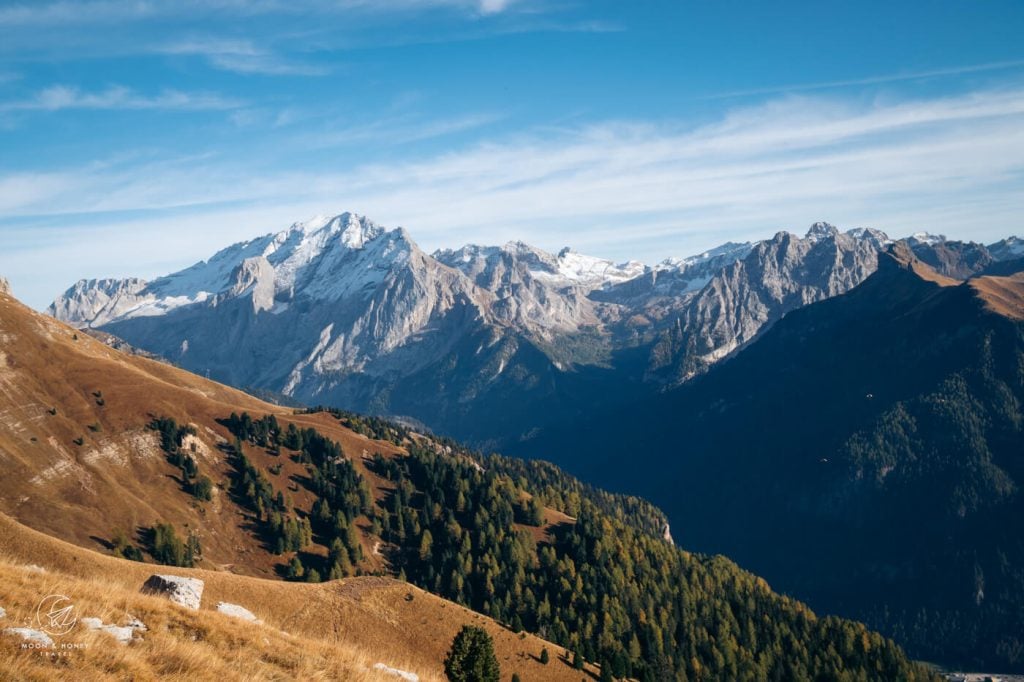
[{"label": "largest snow-capped rocky massif, at left of the distant range", "polygon": [[50,312],[228,383],[315,401],[345,375],[408,373],[442,357],[492,299],[403,229],[344,214],[153,283],[79,283]]}]

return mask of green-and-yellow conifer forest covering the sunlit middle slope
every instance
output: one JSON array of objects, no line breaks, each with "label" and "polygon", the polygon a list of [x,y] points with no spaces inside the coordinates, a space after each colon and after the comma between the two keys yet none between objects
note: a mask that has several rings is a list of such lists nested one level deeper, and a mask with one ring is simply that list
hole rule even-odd
[{"label": "green-and-yellow conifer forest covering the sunlit middle slope", "polygon": [[[383,422],[341,419],[377,436],[402,434]],[[360,557],[348,536],[366,518],[388,570],[550,639],[615,678],[930,676],[862,626],[818,619],[724,557],[676,548],[650,505],[583,485],[551,465],[473,455],[410,433],[408,455],[375,454],[367,463],[388,487],[372,504],[364,479],[315,431],[282,428],[273,416],[232,415],[226,423],[236,452],[258,453],[236,457],[259,531],[283,554],[301,550],[290,578],[350,571]],[[292,450],[309,465],[316,492],[307,515],[278,502],[254,464]],[[310,519],[308,530],[300,518]]]}]

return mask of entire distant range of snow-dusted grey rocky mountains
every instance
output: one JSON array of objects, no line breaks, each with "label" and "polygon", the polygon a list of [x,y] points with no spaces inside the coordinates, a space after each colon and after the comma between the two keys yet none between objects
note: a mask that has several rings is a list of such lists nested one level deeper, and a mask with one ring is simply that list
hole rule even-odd
[{"label": "entire distant range of snow-dusted grey rocky mountains", "polygon": [[[890,243],[816,223],[648,266],[522,243],[427,254],[345,213],[153,282],[79,282],[49,312],[231,385],[501,445],[705,372],[858,285]],[[954,276],[1024,255],[1016,239],[909,244]]]}]

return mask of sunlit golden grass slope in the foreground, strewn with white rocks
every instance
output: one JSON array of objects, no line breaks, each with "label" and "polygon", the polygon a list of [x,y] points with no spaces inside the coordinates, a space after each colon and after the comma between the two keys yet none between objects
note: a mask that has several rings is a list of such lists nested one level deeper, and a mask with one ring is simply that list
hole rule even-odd
[{"label": "sunlit golden grass slope in the foreground, strewn with white rocks", "polygon": [[[155,572],[204,581],[201,610],[140,594]],[[0,638],[0,679],[397,679],[371,669],[381,663],[421,680],[442,680],[451,642],[470,624],[490,633],[503,678],[581,677],[559,659],[564,651],[553,644],[516,635],[396,580],[309,585],[137,563],[75,547],[0,515],[0,607],[7,611],[0,629],[25,625],[50,594],[71,598],[79,616],[117,624],[130,613],[150,630],[142,642],[124,646],[77,628],[59,641],[93,646],[56,662],[22,650],[16,637]],[[216,612],[222,601],[248,608],[263,624]],[[545,647],[551,654],[547,666],[539,662]]]}]

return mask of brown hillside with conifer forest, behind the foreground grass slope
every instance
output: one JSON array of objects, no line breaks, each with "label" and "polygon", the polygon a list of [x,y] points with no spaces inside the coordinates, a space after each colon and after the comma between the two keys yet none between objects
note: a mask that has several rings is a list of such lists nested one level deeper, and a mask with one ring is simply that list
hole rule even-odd
[{"label": "brown hillside with conifer forest, behind the foreground grass slope", "polygon": [[[501,643],[531,679],[586,662],[654,680],[931,677],[863,626],[817,617],[724,558],[675,548],[650,505],[550,465],[473,457],[373,418],[263,403],[121,353],[8,296],[0,333],[0,509],[127,565],[196,566],[217,584],[218,571],[344,580],[378,604],[332,597],[358,614],[360,633],[344,636],[364,641],[399,623],[403,654],[434,670],[437,642],[412,643],[434,621],[446,631],[471,616],[445,615],[430,595],[402,598],[371,574],[480,611],[496,638],[497,623],[543,633],[550,669],[525,653],[541,640]],[[422,620],[394,603],[402,599]]]}]

